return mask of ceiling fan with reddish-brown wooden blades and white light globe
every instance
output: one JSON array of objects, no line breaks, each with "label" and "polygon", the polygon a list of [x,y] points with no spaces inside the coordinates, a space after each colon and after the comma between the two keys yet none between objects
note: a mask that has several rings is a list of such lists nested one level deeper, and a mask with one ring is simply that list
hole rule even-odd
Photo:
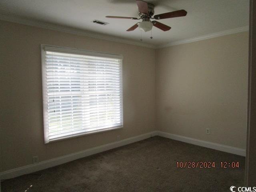
[{"label": "ceiling fan with reddish-brown wooden blades and white light globe", "polygon": [[178,10],[178,11],[173,11],[173,12],[168,12],[168,13],[162,13],[155,15],[153,18],[152,16],[154,15],[154,4],[142,1],[142,0],[136,0],[137,6],[138,6],[138,14],[140,18],[136,17],[119,17],[119,16],[106,16],[106,18],[118,18],[118,19],[134,19],[134,20],[140,20],[142,19],[142,22],[136,23],[134,26],[130,27],[126,31],[133,31],[137,27],[141,31],[147,32],[152,30],[152,27],[155,26],[163,31],[168,31],[171,29],[171,27],[162,24],[158,21],[150,21],[150,19],[166,19],[166,18],[173,18],[173,17],[182,17],[186,16],[187,12],[185,10]]}]

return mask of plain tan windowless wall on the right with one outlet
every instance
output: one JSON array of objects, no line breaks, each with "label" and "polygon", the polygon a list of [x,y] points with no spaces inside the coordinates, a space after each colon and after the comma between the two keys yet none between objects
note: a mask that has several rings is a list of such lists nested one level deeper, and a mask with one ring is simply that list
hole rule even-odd
[{"label": "plain tan windowless wall on the right with one outlet", "polygon": [[158,130],[246,148],[248,32],[161,48],[156,62]]}]

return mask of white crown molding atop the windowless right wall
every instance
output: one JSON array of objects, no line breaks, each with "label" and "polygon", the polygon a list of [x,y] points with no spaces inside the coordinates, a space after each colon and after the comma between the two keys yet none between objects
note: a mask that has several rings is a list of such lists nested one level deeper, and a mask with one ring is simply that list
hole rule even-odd
[{"label": "white crown molding atop the windowless right wall", "polygon": [[225,30],[225,31],[217,32],[217,33],[211,33],[208,35],[198,36],[198,37],[194,37],[194,38],[184,39],[184,40],[180,40],[180,41],[174,41],[174,42],[170,42],[168,44],[157,46],[156,48],[164,48],[164,47],[170,47],[170,46],[179,45],[179,44],[191,43],[191,42],[195,42],[195,41],[201,41],[201,40],[205,40],[205,39],[210,39],[210,38],[214,38],[214,37],[220,37],[220,36],[224,36],[224,35],[244,32],[244,31],[248,31],[248,30],[249,30],[249,26],[244,26],[244,27],[240,27],[240,28]]}]

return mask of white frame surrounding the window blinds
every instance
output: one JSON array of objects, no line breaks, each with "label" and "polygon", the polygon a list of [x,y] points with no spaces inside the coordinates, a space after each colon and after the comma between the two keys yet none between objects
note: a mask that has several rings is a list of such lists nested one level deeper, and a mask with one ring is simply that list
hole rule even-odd
[{"label": "white frame surrounding the window blinds", "polygon": [[[91,130],[91,131],[85,131],[85,132],[80,132],[76,134],[70,134],[67,136],[61,136],[58,138],[53,138],[53,139],[48,139],[48,120],[47,120],[47,88],[46,88],[46,74],[45,74],[45,54],[46,51],[51,51],[51,52],[61,52],[61,53],[68,53],[68,54],[80,54],[80,55],[86,55],[86,56],[96,56],[96,57],[105,57],[105,58],[116,58],[120,60],[120,108],[121,108],[121,126],[114,126],[114,127],[109,127],[109,128],[102,128],[102,129],[96,129],[96,130]],[[83,135],[88,135],[88,134],[95,134],[99,132],[105,132],[109,130],[116,130],[124,127],[124,111],[123,111],[123,81],[122,81],[122,64],[123,64],[123,56],[118,55],[118,54],[111,54],[111,53],[106,53],[106,52],[94,52],[94,51],[89,51],[89,50],[83,50],[83,49],[78,49],[78,48],[69,48],[69,47],[62,47],[62,46],[52,46],[52,45],[47,45],[47,44],[41,44],[41,67],[42,67],[42,95],[43,95],[43,121],[44,121],[44,143],[48,144],[50,142],[54,141],[59,141],[59,140],[64,140],[68,138],[74,138],[78,136],[83,136]]]}]

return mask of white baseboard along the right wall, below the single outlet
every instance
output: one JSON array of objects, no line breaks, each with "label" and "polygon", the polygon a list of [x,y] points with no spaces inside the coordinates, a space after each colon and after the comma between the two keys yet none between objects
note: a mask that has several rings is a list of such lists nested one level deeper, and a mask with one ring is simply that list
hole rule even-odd
[{"label": "white baseboard along the right wall, below the single outlet", "polygon": [[194,138],[185,137],[185,136],[181,136],[181,135],[170,134],[170,133],[162,132],[162,131],[158,131],[158,136],[177,140],[177,141],[182,141],[185,143],[190,143],[190,144],[194,144],[194,145],[198,145],[198,146],[202,146],[202,147],[206,147],[206,148],[211,148],[211,149],[215,149],[215,150],[219,150],[219,151],[224,151],[227,153],[232,153],[232,154],[236,154],[236,155],[240,155],[240,156],[246,156],[246,150],[242,149],[242,148],[236,148],[236,147],[232,147],[232,146],[228,146],[228,145],[222,145],[222,144],[218,144],[218,143],[194,139]]}]

